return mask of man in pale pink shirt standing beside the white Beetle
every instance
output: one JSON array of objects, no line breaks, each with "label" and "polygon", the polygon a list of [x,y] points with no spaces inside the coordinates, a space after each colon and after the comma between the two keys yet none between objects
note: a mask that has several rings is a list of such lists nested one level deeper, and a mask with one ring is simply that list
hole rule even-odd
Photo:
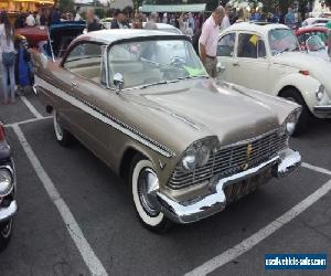
[{"label": "man in pale pink shirt standing beside the white Beetle", "polygon": [[199,40],[200,59],[205,66],[206,72],[211,77],[216,77],[216,53],[220,24],[225,17],[225,10],[218,6],[212,15],[205,21],[202,26],[201,36]]}]

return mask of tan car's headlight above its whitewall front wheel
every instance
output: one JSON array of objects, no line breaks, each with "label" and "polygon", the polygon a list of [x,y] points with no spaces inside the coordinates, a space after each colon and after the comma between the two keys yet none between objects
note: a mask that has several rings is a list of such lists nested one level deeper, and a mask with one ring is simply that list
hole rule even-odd
[{"label": "tan car's headlight above its whitewall front wheel", "polygon": [[184,152],[181,167],[185,172],[193,171],[196,167],[205,166],[217,146],[216,137],[209,137],[191,145]]}]

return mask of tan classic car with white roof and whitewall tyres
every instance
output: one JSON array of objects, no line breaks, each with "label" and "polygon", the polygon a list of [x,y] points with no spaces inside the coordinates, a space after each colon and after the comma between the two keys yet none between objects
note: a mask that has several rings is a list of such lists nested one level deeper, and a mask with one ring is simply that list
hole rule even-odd
[{"label": "tan classic car with white roof and whitewall tyres", "polygon": [[300,164],[288,145],[300,106],[211,79],[184,35],[104,30],[55,63],[33,56],[56,140],[75,137],[127,179],[150,230],[210,216]]}]

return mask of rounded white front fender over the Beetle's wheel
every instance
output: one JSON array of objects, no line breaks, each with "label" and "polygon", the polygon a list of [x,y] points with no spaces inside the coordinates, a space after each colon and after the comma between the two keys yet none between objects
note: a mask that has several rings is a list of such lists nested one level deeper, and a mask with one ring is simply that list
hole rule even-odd
[{"label": "rounded white front fender over the Beetle's wheel", "polygon": [[292,73],[284,76],[276,83],[273,94],[279,96],[279,93],[282,91],[282,88],[292,86],[300,92],[306,105],[310,112],[313,113],[313,106],[317,105],[316,92],[320,85],[321,83],[312,76]]}]

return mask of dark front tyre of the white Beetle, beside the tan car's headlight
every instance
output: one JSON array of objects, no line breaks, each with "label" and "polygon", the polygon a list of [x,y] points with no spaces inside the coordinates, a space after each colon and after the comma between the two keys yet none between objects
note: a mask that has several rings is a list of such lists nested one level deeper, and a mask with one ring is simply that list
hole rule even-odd
[{"label": "dark front tyre of the white Beetle, beside the tan car's headlight", "polygon": [[307,130],[308,124],[311,120],[310,110],[309,110],[308,106],[306,105],[306,102],[302,98],[301,94],[295,88],[287,88],[281,94],[281,97],[302,106],[302,112],[301,112],[301,115],[297,123],[296,130],[292,134],[293,137],[297,137]]}]

